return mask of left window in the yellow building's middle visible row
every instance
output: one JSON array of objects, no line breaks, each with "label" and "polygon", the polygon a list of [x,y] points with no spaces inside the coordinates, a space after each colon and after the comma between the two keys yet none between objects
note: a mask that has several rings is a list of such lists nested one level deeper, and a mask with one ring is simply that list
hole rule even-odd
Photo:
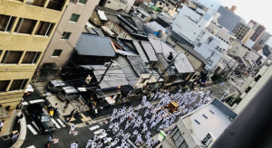
[{"label": "left window in the yellow building's middle visible row", "polygon": [[21,59],[23,51],[5,51],[5,55],[1,63],[5,64],[17,64]]}]

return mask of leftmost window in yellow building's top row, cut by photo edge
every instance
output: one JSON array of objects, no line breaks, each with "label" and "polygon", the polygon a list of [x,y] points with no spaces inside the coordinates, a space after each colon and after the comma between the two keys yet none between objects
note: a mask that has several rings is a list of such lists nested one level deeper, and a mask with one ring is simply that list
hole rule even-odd
[{"label": "leftmost window in yellow building's top row, cut by photo edge", "polygon": [[0,32],[10,32],[15,23],[15,17],[0,14]]}]

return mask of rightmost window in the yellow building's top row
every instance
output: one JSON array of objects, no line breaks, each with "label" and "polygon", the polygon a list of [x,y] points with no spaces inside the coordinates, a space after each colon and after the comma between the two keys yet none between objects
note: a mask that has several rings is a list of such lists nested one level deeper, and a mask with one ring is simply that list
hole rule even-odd
[{"label": "rightmost window in the yellow building's top row", "polygon": [[54,23],[41,21],[36,29],[35,35],[49,36],[53,30]]}]

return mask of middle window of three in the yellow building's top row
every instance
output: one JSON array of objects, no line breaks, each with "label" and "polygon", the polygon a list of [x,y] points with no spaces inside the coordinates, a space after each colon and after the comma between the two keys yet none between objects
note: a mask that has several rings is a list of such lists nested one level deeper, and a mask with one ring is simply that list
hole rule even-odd
[{"label": "middle window of three in the yellow building's top row", "polygon": [[31,34],[36,22],[37,21],[35,20],[20,18],[15,28],[15,32]]}]

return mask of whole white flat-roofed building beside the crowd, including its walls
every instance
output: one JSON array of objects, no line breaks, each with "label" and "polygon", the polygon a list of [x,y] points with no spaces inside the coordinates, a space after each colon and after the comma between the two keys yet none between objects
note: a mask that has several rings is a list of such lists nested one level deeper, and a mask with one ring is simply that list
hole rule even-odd
[{"label": "whole white flat-roofed building beside the crowd, including its walls", "polygon": [[208,105],[180,117],[177,125],[162,141],[162,147],[210,147],[236,116],[222,102],[214,99]]}]

